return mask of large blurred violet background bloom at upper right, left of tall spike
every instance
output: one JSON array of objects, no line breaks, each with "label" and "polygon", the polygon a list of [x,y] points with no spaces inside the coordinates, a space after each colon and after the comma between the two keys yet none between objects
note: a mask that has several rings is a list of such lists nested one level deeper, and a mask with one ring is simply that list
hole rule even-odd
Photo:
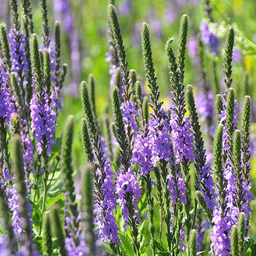
[{"label": "large blurred violet background bloom at upper right, left of tall spike", "polygon": [[220,45],[220,39],[218,39],[217,36],[210,31],[210,28],[204,19],[200,23],[200,31],[201,41],[210,47],[213,54],[217,55],[219,53],[218,46]]}]

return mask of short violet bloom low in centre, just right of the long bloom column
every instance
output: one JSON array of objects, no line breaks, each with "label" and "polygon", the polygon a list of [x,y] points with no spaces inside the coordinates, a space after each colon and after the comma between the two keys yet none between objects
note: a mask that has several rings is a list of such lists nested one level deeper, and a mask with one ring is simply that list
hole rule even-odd
[{"label": "short violet bloom low in centre, just right of the long bloom column", "polygon": [[[138,200],[141,197],[140,186],[138,185],[138,179],[132,167],[127,172],[118,170],[116,194],[119,197],[117,203],[121,207],[124,228],[127,229],[129,218],[134,218],[136,223],[140,223],[140,218],[138,217]],[[129,198],[129,202],[132,202],[132,206],[129,206],[127,198]],[[129,209],[129,207],[133,207],[133,209]],[[130,211],[134,214],[133,216],[130,216]]]}]

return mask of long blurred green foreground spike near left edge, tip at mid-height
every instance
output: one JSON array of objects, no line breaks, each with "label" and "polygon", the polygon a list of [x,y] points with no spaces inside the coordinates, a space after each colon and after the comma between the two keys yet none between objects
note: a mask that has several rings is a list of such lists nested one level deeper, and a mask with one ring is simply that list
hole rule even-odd
[{"label": "long blurred green foreground spike near left edge, tip at mid-height", "polygon": [[26,197],[26,184],[25,184],[25,170],[24,170],[24,160],[23,160],[23,150],[22,150],[22,140],[19,135],[14,135],[12,138],[12,152],[14,158],[13,171],[15,174],[15,185],[18,193],[18,202],[19,207],[18,211],[20,214],[20,224],[22,225],[23,232],[23,241],[22,244],[25,246],[28,244],[28,251],[30,255],[33,255],[33,236],[32,236],[32,227],[30,225],[30,216],[29,216],[29,206],[28,199]]}]

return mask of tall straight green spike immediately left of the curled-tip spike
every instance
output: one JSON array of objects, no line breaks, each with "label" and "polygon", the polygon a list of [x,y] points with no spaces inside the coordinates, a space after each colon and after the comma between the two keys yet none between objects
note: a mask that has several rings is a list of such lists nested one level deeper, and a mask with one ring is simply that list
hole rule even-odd
[{"label": "tall straight green spike immediately left of the curled-tip spike", "polygon": [[154,63],[150,42],[150,26],[147,23],[142,24],[142,55],[145,63],[146,79],[148,81],[148,87],[150,88],[150,102],[154,106],[154,114],[157,116],[158,111],[161,108],[161,104],[158,103],[160,92],[156,83],[156,76],[154,74]]}]

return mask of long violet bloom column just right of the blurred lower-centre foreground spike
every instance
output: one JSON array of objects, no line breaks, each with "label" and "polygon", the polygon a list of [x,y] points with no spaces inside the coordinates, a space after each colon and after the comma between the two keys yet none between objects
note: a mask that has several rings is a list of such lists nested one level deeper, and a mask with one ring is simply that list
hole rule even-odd
[{"label": "long violet bloom column just right of the blurred lower-centre foreground spike", "polygon": [[[105,174],[102,185],[102,201],[96,199],[94,205],[95,225],[98,226],[98,233],[103,242],[112,242],[118,244],[120,239],[118,236],[118,225],[116,225],[116,217],[113,212],[116,212],[116,195],[114,194],[114,183],[112,181],[113,173],[110,170],[110,164],[105,160]],[[102,179],[100,171],[97,170],[98,179]]]}]

